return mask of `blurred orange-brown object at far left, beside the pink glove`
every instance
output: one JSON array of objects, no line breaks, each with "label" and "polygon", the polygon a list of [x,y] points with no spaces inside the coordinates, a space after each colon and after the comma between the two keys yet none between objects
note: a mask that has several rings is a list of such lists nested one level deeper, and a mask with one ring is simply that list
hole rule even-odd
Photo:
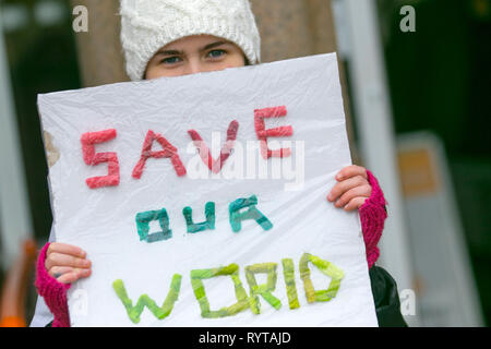
[{"label": "blurred orange-brown object at far left, beside the pink glove", "polygon": [[25,300],[36,254],[34,240],[25,241],[21,255],[7,274],[0,298],[0,327],[26,327]]}]

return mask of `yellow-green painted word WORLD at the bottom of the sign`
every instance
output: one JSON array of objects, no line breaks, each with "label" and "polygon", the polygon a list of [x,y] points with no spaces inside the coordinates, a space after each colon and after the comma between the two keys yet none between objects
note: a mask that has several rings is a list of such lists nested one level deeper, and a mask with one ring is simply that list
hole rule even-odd
[{"label": "yellow-green painted word WORLD at the bottom of the sign", "polygon": [[[327,289],[314,289],[309,263],[318,267],[322,274],[331,278]],[[294,310],[300,308],[297,285],[295,281],[294,261],[291,258],[284,258],[282,260],[282,265],[289,309]],[[239,276],[239,266],[235,263],[228,266],[207,269],[193,269],[190,272],[191,286],[193,288],[194,297],[199,303],[202,317],[218,318],[235,316],[248,310],[252,311],[253,314],[261,314],[262,305],[260,302],[260,297],[276,311],[283,306],[282,301],[273,294],[276,290],[277,284],[277,263],[253,264],[247,266],[244,269],[246,279],[249,285],[249,294],[242,286],[242,281]],[[340,281],[344,278],[344,272],[339,267],[310,253],[303,253],[301,256],[299,261],[299,272],[308,303],[327,302],[335,298],[337,291],[339,290]],[[255,278],[255,275],[258,274],[266,274],[265,284],[258,285],[258,280]],[[237,302],[229,306],[212,310],[203,280],[220,276],[228,276],[231,278]],[[181,281],[182,276],[180,274],[175,274],[172,276],[169,292],[167,293],[161,306],[158,306],[157,303],[148,297],[148,294],[142,294],[136,304],[133,305],[133,301],[129,298],[124,282],[121,279],[113,281],[112,288],[127,310],[130,320],[134,324],[137,324],[145,306],[158,320],[164,320],[169,316],[172,312],[173,305],[179,299]]]}]

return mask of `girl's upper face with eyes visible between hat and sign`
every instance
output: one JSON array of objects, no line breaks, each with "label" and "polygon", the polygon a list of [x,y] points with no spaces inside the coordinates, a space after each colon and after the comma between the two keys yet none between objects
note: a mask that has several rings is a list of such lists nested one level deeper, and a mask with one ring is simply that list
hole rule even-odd
[{"label": "girl's upper face with eyes visible between hat and sign", "polygon": [[246,65],[242,50],[212,35],[193,35],[164,46],[149,60],[144,79],[180,76]]}]

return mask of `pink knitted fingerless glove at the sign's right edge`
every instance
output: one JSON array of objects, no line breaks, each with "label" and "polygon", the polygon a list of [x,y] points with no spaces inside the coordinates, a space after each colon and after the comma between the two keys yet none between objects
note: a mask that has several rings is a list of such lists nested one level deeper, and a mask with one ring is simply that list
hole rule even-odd
[{"label": "pink knitted fingerless glove at the sign's right edge", "polygon": [[361,230],[363,231],[364,246],[367,250],[367,262],[369,268],[376,262],[380,255],[376,244],[384,229],[384,221],[387,218],[385,210],[385,197],[379,181],[373,177],[372,172],[367,170],[368,181],[372,185],[372,194],[360,207]]}]

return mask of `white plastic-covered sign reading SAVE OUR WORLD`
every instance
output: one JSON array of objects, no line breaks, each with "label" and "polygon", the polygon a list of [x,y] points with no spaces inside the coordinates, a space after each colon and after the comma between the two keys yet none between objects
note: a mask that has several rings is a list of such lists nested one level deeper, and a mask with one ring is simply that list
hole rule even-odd
[{"label": "white plastic-covered sign reading SAVE OUR WORLD", "polygon": [[[57,241],[93,262],[69,291],[73,326],[376,326],[358,213],[325,198],[351,164],[334,53],[45,94],[38,107],[56,159]],[[273,107],[286,113],[264,129],[290,125],[292,135],[267,146],[291,154],[266,160],[254,110]],[[233,120],[233,151],[212,172],[189,131],[216,160]],[[116,136],[94,151],[116,153],[119,184],[91,189],[86,179],[108,164],[87,165],[81,139],[104,130]],[[161,157],[132,177],[148,131],[177,149],[185,176]],[[163,152],[158,142],[152,152]],[[232,203],[250,206],[232,215]],[[158,239],[163,225],[171,232]]]}]

